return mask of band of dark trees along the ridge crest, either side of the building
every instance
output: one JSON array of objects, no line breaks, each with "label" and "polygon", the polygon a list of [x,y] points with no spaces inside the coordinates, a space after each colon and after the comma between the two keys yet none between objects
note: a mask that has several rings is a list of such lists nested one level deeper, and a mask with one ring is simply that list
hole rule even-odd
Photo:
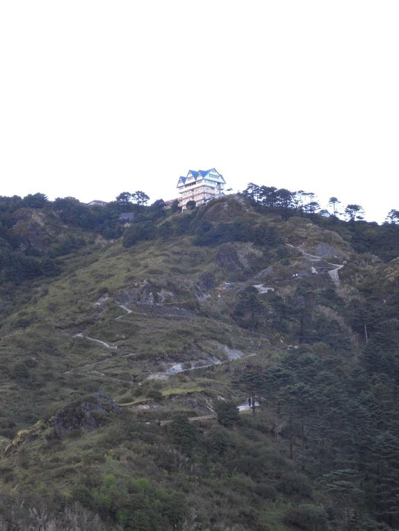
[{"label": "band of dark trees along the ridge crest, either side of the building", "polygon": [[[345,215],[349,224],[332,216],[329,219],[316,215],[319,204],[315,194],[290,192],[287,189],[258,186],[250,183],[243,192],[256,206],[259,212],[279,214],[287,220],[293,216],[310,217],[324,228],[336,230],[340,234],[350,235],[355,251],[370,252],[382,260],[392,260],[398,256],[399,230],[397,210],[391,210],[387,222],[382,226],[375,223],[355,221],[359,217],[361,206],[348,205]],[[268,248],[279,244],[275,228],[266,221],[254,226],[250,221],[241,219],[214,223],[206,219],[206,208],[188,209],[189,212],[165,220],[167,212],[162,200],[147,206],[145,192],[122,192],[117,199],[104,206],[88,207],[74,198],[58,198],[49,201],[44,194],[29,194],[23,199],[19,196],[0,197],[0,271],[2,282],[21,283],[38,276],[56,276],[60,272],[57,258],[72,253],[87,243],[90,232],[105,239],[122,237],[125,247],[138,242],[154,239],[168,239],[182,235],[193,235],[193,244],[197,246],[216,246],[228,242],[253,242],[257,246]],[[332,198],[339,201],[336,198]],[[335,205],[334,203],[334,212]],[[193,205],[191,205],[193,206]],[[195,206],[195,205],[194,205]],[[209,205],[211,206],[211,205]],[[204,212],[205,211],[205,212]],[[35,215],[36,212],[36,215]],[[122,212],[133,212],[135,221],[124,228],[119,222]],[[176,212],[173,208],[170,213]],[[42,224],[62,222],[70,229],[78,228],[83,233],[67,230],[55,238],[43,238],[40,235]],[[85,237],[86,233],[86,237]],[[54,241],[55,240],[55,241]]]}]

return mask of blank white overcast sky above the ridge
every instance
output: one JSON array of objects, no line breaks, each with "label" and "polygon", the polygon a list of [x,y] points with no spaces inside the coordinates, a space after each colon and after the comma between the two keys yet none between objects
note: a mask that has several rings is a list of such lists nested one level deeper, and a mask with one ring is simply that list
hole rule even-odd
[{"label": "blank white overcast sky above the ridge", "polygon": [[399,210],[398,0],[0,0],[0,195],[188,169]]}]

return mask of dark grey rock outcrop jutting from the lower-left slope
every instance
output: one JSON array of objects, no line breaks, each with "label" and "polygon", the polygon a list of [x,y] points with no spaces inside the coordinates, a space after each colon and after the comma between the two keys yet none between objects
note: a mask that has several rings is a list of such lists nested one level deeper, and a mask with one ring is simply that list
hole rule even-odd
[{"label": "dark grey rock outcrop jutting from the lower-left slope", "polygon": [[74,403],[56,412],[53,426],[59,439],[65,439],[74,430],[95,430],[104,423],[106,417],[117,414],[119,407],[104,393],[94,393],[87,401]]}]

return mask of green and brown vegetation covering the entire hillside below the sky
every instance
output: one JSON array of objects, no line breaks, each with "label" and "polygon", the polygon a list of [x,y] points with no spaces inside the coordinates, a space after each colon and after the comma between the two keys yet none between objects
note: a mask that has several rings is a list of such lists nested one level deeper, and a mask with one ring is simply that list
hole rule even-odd
[{"label": "green and brown vegetation covering the entire hillside below the sky", "polygon": [[398,530],[398,211],[147,202],[0,198],[0,528]]}]

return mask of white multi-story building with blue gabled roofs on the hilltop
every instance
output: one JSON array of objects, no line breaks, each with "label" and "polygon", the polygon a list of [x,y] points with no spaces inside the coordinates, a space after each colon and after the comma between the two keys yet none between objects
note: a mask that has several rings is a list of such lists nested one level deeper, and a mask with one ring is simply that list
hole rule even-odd
[{"label": "white multi-story building with blue gabled roofs on the hilltop", "polygon": [[186,208],[188,201],[196,205],[204,205],[211,199],[223,195],[226,181],[215,168],[193,171],[190,169],[186,177],[180,177],[177,183],[179,190],[179,206]]}]

